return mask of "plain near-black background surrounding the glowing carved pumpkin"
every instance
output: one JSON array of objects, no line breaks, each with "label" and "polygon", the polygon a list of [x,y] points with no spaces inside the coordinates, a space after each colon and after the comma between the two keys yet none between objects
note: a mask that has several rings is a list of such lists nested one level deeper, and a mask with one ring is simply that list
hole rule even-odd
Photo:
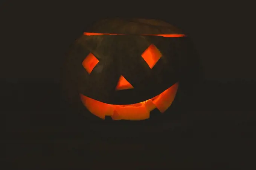
[{"label": "plain near-black background surrounding the glowing carved pumpkin", "polygon": [[[253,6],[213,2],[2,2],[1,107],[9,167],[251,167],[255,158]],[[168,3],[168,4],[166,4]],[[189,35],[204,81],[181,116],[154,140],[90,134],[61,97],[61,63],[83,30],[102,18],[167,21]],[[18,168],[18,169],[20,169]]]}]

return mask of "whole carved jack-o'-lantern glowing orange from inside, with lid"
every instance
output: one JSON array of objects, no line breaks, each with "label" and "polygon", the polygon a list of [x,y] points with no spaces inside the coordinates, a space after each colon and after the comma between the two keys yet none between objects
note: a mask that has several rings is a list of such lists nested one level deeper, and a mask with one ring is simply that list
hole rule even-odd
[{"label": "whole carved jack-o'-lantern glowing orange from inside, with lid", "polygon": [[158,20],[99,21],[72,45],[66,78],[90,114],[145,120],[172,105],[189,65],[187,36]]}]

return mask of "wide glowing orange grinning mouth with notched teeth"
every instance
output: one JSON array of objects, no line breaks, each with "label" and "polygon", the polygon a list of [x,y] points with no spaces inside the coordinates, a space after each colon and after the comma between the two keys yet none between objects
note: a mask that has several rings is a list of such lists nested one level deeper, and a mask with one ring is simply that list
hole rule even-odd
[{"label": "wide glowing orange grinning mouth with notched teeth", "polygon": [[152,99],[131,105],[111,105],[82,94],[80,97],[88,111],[99,118],[111,116],[113,120],[144,120],[150,117],[150,112],[155,108],[161,113],[165,112],[171,106],[177,90],[178,82]]}]

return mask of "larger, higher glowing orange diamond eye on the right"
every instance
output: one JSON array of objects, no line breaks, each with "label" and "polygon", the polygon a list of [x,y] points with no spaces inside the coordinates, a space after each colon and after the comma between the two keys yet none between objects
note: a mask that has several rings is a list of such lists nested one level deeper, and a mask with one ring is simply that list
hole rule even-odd
[{"label": "larger, higher glowing orange diamond eye on the right", "polygon": [[151,44],[143,53],[142,58],[146,61],[148,66],[152,69],[157,61],[162,57],[161,52],[155,47],[154,44]]}]

